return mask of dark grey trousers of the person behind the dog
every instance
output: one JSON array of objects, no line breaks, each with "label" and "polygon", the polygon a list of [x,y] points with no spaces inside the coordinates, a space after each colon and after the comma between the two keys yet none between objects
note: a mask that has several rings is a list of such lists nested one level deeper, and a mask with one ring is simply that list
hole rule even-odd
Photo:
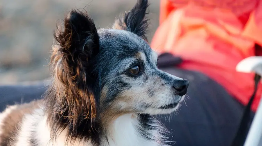
[{"label": "dark grey trousers of the person behind the dog", "polygon": [[[170,123],[165,118],[161,119],[172,132],[170,140],[176,141],[174,146],[229,146],[244,107],[219,84],[201,73],[174,67],[160,69],[190,80],[187,106],[182,105],[179,115],[172,114]],[[0,86],[0,112],[7,104],[39,99],[45,90],[43,84]]]}]

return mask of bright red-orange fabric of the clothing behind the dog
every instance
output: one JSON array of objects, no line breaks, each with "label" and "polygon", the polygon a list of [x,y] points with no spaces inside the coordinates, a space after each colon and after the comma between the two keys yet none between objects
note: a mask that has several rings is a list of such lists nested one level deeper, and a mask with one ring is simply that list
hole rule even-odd
[{"label": "bright red-orange fabric of the clothing behind the dog", "polygon": [[[207,74],[244,105],[254,91],[254,74],[236,72],[236,65],[262,54],[255,44],[262,46],[262,0],[160,1],[151,47],[181,56],[179,67]],[[259,84],[253,111],[261,94]]]}]

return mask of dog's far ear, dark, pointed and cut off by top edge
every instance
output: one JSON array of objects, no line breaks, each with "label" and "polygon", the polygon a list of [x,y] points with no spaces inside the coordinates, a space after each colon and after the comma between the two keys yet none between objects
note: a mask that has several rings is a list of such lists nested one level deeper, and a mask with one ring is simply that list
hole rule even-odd
[{"label": "dog's far ear, dark, pointed and cut off by top edge", "polygon": [[148,0],[138,0],[132,10],[126,12],[117,18],[113,24],[113,29],[122,29],[133,32],[138,36],[146,39],[148,28],[148,19],[146,19],[146,9],[148,8]]}]

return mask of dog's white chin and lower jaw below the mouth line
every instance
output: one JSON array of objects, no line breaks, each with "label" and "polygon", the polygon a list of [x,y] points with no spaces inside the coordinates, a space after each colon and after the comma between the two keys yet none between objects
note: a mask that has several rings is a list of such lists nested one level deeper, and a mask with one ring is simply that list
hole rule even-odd
[{"label": "dog's white chin and lower jaw below the mouth line", "polygon": [[169,114],[169,113],[176,111],[179,107],[180,107],[180,103],[174,106],[166,107],[166,108],[149,107],[144,112],[141,112],[141,114],[152,114],[152,115]]}]

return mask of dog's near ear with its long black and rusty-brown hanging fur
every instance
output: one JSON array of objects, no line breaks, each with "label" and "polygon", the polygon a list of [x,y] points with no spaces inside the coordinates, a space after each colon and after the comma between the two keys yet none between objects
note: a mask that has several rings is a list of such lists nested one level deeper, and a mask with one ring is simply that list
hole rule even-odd
[{"label": "dog's near ear with its long black and rusty-brown hanging fur", "polygon": [[50,58],[53,83],[45,95],[51,131],[57,134],[67,126],[70,137],[91,135],[88,133],[95,129],[83,129],[82,123],[93,126],[98,110],[97,77],[92,67],[99,52],[97,29],[87,13],[71,10],[54,37],[57,45]]}]

